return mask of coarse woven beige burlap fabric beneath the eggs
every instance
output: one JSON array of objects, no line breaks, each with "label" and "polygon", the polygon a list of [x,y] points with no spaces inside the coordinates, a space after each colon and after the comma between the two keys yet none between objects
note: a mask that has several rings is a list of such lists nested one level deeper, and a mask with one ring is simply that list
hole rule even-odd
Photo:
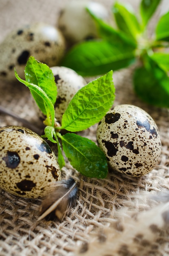
[{"label": "coarse woven beige burlap fabric beneath the eggs", "polygon": [[[55,25],[57,15],[66,2],[68,0],[0,0],[0,40],[16,26],[30,22],[44,21]],[[112,5],[111,0],[103,2],[108,7]],[[137,8],[139,1],[129,2]],[[106,179],[97,180],[79,175],[66,160],[62,176],[72,175],[75,178],[79,195],[75,208],[63,222],[55,219],[36,223],[36,211],[40,200],[19,198],[0,190],[1,256],[74,255],[74,250],[79,244],[90,240],[89,235],[92,231],[108,227],[118,218],[118,213],[123,218],[127,214],[149,209],[150,206],[143,197],[144,191],[148,195],[154,195],[158,191],[169,189],[169,112],[167,109],[148,106],[136,97],[132,88],[132,71],[130,68],[114,72],[114,104],[129,103],[139,106],[156,121],[162,141],[161,156],[156,168],[144,177],[126,177],[119,173],[109,173]],[[40,126],[29,90],[17,81],[0,81],[0,105],[35,126]],[[0,114],[0,126],[6,125],[23,124],[12,117]],[[80,134],[96,142],[96,128],[97,126],[93,126]],[[151,254],[148,251],[143,254],[140,250],[136,255],[168,255],[168,239],[166,233],[161,233],[160,243],[156,241],[154,254],[152,250]],[[132,254],[127,254],[126,251],[123,254],[119,252],[120,255]]]}]

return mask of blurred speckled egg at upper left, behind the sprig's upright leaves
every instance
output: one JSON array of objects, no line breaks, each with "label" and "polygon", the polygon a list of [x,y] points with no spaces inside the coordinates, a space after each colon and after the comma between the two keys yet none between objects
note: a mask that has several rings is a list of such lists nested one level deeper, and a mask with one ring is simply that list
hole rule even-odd
[{"label": "blurred speckled egg at upper left, behind the sprig's upright leaves", "polygon": [[0,78],[14,80],[14,67],[24,78],[29,56],[48,66],[58,65],[66,44],[61,31],[52,25],[35,23],[9,33],[0,44]]}]

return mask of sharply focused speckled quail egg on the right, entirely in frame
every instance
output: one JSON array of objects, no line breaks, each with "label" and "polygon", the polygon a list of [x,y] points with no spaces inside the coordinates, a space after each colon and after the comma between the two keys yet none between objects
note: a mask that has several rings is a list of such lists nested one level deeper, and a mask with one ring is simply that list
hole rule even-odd
[{"label": "sharply focused speckled quail egg on the right, entirely in frame", "polygon": [[132,176],[142,176],[158,163],[160,134],[152,117],[133,105],[119,105],[99,122],[98,145],[110,168]]}]

